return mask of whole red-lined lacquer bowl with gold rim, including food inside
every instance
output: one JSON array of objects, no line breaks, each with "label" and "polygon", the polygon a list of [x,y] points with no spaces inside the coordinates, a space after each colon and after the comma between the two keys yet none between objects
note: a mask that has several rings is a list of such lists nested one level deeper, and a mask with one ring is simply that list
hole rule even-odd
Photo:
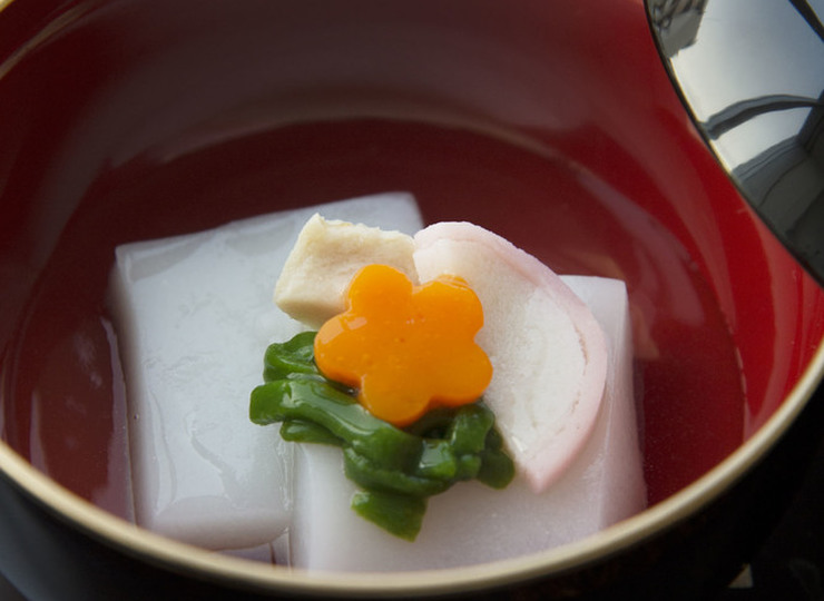
[{"label": "whole red-lined lacquer bowl with gold rim, including food inside", "polygon": [[0,11],[0,528],[61,566],[9,553],[12,582],[677,578],[812,395],[824,293],[642,8],[596,6]]}]

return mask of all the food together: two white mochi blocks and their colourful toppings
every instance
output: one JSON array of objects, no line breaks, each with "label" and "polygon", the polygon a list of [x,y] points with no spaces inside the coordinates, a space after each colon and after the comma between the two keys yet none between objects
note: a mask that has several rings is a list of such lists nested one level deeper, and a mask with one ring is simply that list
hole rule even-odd
[{"label": "all the food together: two white mochi blocks and their colourful toppings", "polygon": [[303,224],[316,209],[422,225],[384,194],[118,247],[139,524],[298,568],[411,570],[549,549],[644,508],[620,282],[565,280],[468,223],[413,238]]}]

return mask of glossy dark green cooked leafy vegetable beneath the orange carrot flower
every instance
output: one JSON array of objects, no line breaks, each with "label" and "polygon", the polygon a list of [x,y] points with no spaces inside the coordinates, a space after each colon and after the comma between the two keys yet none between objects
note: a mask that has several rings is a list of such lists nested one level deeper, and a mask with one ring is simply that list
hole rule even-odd
[{"label": "glossy dark green cooked leafy vegetable beneath the orange carrot flower", "polygon": [[502,489],[512,480],[514,465],[481,401],[395,427],[369,413],[356,391],[318,372],[314,338],[304,332],[266,349],[265,384],[252,392],[249,417],[259,425],[279,422],[286,441],[340,446],[346,476],[361,489],[352,499],[361,516],[413,541],[429,496],[460,481]]}]

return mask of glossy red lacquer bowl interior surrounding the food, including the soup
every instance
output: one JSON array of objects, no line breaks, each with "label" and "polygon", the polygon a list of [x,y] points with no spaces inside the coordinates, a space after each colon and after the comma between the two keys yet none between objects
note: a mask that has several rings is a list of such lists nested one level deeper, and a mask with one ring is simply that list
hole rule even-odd
[{"label": "glossy red lacquer bowl interior surrounding the food, including the soup", "polygon": [[821,344],[822,290],[695,134],[637,2],[27,3],[0,12],[0,432],[117,515],[126,242],[402,189],[430,223],[625,279],[650,504],[764,424]]}]

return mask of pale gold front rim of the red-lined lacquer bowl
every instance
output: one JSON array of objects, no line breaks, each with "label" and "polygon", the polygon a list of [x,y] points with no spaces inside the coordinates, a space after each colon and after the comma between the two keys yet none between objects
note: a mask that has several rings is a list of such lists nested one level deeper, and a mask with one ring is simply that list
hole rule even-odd
[{"label": "pale gold front rim of the red-lined lacquer bowl", "polygon": [[689,516],[744,475],[778,441],[813,396],[824,374],[824,339],[782,405],[740,447],[660,503],[582,541],[528,556],[425,572],[320,573],[246,561],[165,539],[116,518],[57,484],[0,441],[0,471],[43,505],[126,553],[195,578],[244,588],[317,594],[435,594],[506,585],[563,572],[617,553]]}]

